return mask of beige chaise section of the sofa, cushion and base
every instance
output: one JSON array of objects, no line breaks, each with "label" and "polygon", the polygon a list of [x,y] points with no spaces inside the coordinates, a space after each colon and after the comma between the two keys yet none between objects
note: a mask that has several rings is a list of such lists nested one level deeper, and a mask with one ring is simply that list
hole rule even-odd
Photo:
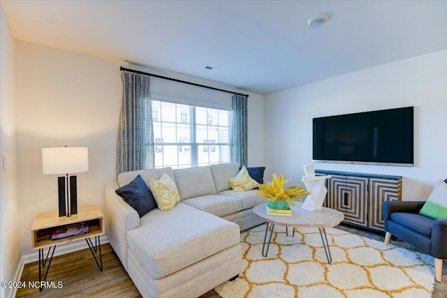
[{"label": "beige chaise section of the sofa, cushion and base", "polygon": [[[207,264],[225,264],[225,273],[219,274],[226,279],[242,270],[240,232],[235,223],[182,203],[168,212],[154,209],[149,215],[143,216],[139,228],[127,233],[129,276],[140,292],[149,292],[149,297],[197,297],[203,292],[195,286],[187,290],[189,294],[179,287],[179,279],[183,284],[198,277],[197,273],[180,274],[183,269],[186,272],[193,266],[209,276]],[[205,292],[223,281],[207,281]]]}]

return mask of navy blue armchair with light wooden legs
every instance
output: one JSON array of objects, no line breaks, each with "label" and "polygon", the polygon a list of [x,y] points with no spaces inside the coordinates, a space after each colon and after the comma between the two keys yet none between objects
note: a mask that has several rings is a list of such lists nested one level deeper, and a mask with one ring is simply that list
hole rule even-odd
[{"label": "navy blue armchair with light wooden legs", "polygon": [[442,261],[447,259],[447,219],[433,219],[419,214],[425,201],[386,201],[385,245],[391,236],[402,239],[434,257],[436,281],[442,279]]}]

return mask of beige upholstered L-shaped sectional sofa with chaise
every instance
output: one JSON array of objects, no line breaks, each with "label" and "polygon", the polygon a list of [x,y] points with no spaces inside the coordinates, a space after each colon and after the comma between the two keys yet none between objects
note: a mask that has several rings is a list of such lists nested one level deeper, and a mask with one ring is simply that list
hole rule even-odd
[{"label": "beige upholstered L-shaped sectional sofa with chaise", "polygon": [[[108,239],[143,297],[198,297],[240,274],[240,230],[263,223],[253,207],[267,199],[234,192],[238,163],[119,174],[105,192]],[[141,218],[115,193],[140,174],[149,185],[163,173],[175,181],[180,202]]]}]

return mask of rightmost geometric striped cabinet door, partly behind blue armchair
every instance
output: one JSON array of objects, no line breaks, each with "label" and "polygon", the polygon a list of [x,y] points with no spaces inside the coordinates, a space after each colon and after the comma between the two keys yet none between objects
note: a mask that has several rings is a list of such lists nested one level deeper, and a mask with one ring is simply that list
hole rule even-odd
[{"label": "rightmost geometric striped cabinet door, partly behind blue armchair", "polygon": [[369,228],[383,231],[383,202],[402,200],[402,177],[369,179]]}]

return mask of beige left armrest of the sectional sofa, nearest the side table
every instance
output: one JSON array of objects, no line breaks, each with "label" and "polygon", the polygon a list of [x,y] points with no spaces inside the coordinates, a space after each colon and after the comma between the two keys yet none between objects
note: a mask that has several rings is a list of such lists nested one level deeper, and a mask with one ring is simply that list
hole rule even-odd
[{"label": "beige left armrest of the sectional sofa, nearest the side table", "polygon": [[127,270],[127,232],[140,226],[140,216],[115,193],[117,188],[117,182],[110,182],[105,186],[107,236],[110,245]]}]

